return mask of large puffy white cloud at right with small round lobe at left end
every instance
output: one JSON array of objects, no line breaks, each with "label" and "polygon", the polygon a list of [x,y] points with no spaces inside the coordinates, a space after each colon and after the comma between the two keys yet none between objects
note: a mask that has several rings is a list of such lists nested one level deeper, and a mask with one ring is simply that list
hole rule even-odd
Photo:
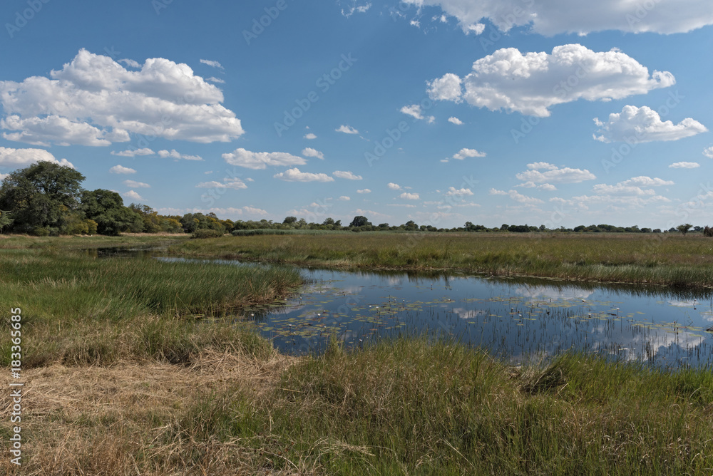
[{"label": "large puffy white cloud at right with small round lobe at left end", "polygon": [[448,73],[429,83],[429,95],[434,100],[463,99],[478,108],[543,118],[553,105],[621,99],[676,82],[668,72],[650,75],[645,66],[620,51],[595,53],[580,44],[555,46],[550,54],[502,48],[473,63],[473,71],[462,80],[464,93],[459,81]]}]

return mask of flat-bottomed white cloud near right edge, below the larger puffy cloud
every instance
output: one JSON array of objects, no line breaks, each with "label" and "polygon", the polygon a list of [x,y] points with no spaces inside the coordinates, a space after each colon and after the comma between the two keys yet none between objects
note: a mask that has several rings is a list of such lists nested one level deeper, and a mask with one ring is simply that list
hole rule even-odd
[{"label": "flat-bottomed white cloud near right edge, below the larger puffy cloud", "polygon": [[598,118],[594,122],[600,128],[597,132],[601,134],[594,138],[604,143],[679,140],[708,130],[692,118],[685,118],[678,124],[670,120],[662,121],[659,113],[645,105],[640,108],[625,105],[621,113],[610,114],[606,123]]}]

